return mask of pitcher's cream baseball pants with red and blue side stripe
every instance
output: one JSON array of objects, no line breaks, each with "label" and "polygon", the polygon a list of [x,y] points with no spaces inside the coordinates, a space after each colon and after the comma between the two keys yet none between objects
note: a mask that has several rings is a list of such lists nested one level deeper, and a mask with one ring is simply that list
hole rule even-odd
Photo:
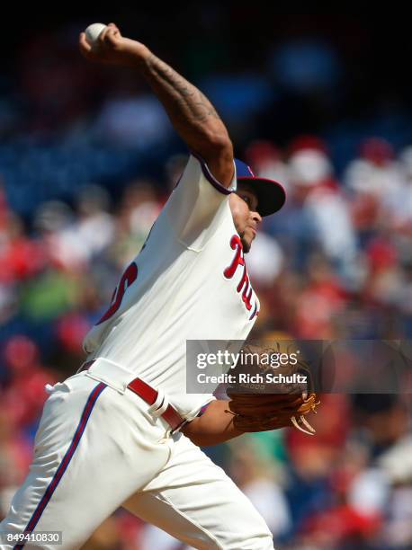
[{"label": "pitcher's cream baseball pants with red and blue side stripe", "polygon": [[79,548],[123,506],[195,548],[273,549],[264,519],[235,483],[183,434],[165,438],[167,428],[129,389],[121,394],[85,372],[57,384],[0,531],[61,531],[61,546],[24,547]]}]

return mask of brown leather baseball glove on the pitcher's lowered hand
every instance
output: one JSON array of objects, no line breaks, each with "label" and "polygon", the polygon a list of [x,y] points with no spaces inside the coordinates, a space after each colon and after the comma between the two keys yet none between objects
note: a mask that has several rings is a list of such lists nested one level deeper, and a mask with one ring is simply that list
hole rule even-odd
[{"label": "brown leather baseball glove on the pitcher's lowered hand", "polygon": [[[242,350],[244,354],[254,354],[259,358],[287,352],[282,342],[269,348],[246,344]],[[288,351],[292,353],[290,347]],[[312,391],[309,366],[304,361],[297,359],[296,363],[292,361],[276,368],[256,363],[251,365],[250,361],[241,366],[237,363],[233,370],[237,380],[239,373],[248,375],[246,382],[236,383],[227,390],[230,398],[228,408],[234,414],[233,424],[237,430],[266,431],[294,426],[304,433],[314,435],[315,430],[305,417],[309,412],[316,412],[320,402]],[[268,374],[272,376],[267,377]],[[251,375],[258,375],[254,380],[258,379],[260,382],[249,383]],[[283,381],[273,383],[273,375],[278,378],[282,375],[280,378]],[[270,382],[266,382],[268,378]]]}]

